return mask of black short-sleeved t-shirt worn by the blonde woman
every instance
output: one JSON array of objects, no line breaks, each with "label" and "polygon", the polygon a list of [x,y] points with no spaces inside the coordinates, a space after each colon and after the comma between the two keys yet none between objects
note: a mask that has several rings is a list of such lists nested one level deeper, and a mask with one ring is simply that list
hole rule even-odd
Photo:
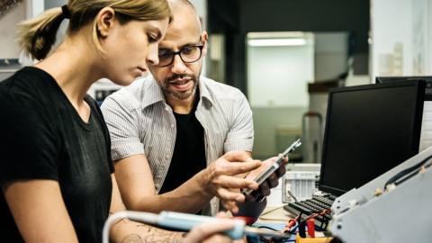
[{"label": "black short-sleeved t-shirt worn by the blonde woman", "polygon": [[[91,107],[88,123],[54,78],[36,67],[24,67],[0,82],[0,185],[23,179],[58,181],[79,241],[100,242],[111,204],[113,167],[102,113],[91,97],[85,102]],[[0,236],[7,242],[23,241],[3,192]]]}]

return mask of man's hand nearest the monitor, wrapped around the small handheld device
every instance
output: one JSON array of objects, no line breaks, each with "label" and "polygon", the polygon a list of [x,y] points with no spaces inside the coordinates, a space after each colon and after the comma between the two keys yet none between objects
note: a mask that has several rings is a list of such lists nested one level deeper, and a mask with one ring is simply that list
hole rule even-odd
[{"label": "man's hand nearest the monitor, wrapped around the small handheld device", "polygon": [[[270,165],[272,165],[273,163],[275,163],[277,160],[277,157],[271,157],[266,159],[265,161],[263,161],[261,163],[261,166],[259,166],[257,169],[255,169],[254,171],[250,172],[245,179],[247,180],[253,180],[255,177],[257,177],[257,175],[261,174],[261,172],[263,172],[264,170],[266,170],[266,168]],[[257,191],[252,192],[250,194],[247,195],[246,197],[246,201],[250,202],[250,201],[257,201],[259,199],[261,199],[263,196],[267,196],[270,194],[270,190],[274,187],[277,186],[277,184],[279,184],[279,178],[282,177],[285,172],[285,165],[286,163],[288,163],[288,157],[284,157],[284,163],[283,166],[279,166],[279,168],[270,176],[268,176],[268,178],[266,179],[265,182],[263,182],[262,184],[259,185],[259,188]]]}]

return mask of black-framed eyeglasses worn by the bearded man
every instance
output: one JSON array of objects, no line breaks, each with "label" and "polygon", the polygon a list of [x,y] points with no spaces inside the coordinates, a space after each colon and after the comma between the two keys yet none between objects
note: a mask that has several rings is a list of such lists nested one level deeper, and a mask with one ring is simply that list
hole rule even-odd
[{"label": "black-framed eyeglasses worn by the bearded man", "polygon": [[178,55],[184,63],[193,63],[201,58],[203,45],[184,46],[179,51],[160,49],[158,51],[159,64],[156,67],[168,67],[174,62],[175,55]]}]

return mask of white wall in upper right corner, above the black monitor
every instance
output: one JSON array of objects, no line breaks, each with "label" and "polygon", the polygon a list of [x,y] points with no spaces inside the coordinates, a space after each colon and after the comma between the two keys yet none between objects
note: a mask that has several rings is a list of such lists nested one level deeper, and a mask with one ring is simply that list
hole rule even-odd
[{"label": "white wall in upper right corner, above the black monitor", "polygon": [[[373,79],[432,75],[432,0],[371,0],[371,37]],[[398,66],[398,43],[403,49],[401,70],[390,68],[389,72],[387,67]]]}]

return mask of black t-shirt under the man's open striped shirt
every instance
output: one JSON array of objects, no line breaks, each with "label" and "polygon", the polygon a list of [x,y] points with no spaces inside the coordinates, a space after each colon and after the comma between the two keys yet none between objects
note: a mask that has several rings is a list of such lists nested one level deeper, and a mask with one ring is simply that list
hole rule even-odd
[{"label": "black t-shirt under the man's open striped shirt", "polygon": [[[199,94],[196,94],[199,97]],[[177,126],[174,154],[159,193],[173,191],[207,166],[204,148],[204,129],[196,119],[199,99],[188,114],[174,112]]]}]

